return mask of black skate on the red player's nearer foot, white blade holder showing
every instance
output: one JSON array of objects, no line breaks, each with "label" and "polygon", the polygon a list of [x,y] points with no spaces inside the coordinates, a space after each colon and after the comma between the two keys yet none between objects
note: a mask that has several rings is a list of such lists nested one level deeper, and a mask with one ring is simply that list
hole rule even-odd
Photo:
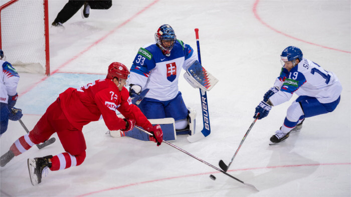
[{"label": "black skate on the red player's nearer foot, white blade holder showing", "polygon": [[44,157],[36,157],[28,159],[28,170],[29,177],[33,185],[39,184],[42,181],[43,170],[47,167],[51,167],[51,162],[49,158],[52,158],[52,155]]}]

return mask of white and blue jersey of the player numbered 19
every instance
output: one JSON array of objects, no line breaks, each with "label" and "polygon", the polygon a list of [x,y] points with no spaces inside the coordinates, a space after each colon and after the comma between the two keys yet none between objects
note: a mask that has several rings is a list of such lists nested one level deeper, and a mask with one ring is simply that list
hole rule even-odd
[{"label": "white and blue jersey of the player numbered 19", "polygon": [[324,70],[306,58],[290,71],[282,68],[274,86],[280,88],[269,98],[274,106],[288,101],[293,93],[315,97],[320,103],[329,103],[335,101],[342,90],[341,83],[333,72]]}]

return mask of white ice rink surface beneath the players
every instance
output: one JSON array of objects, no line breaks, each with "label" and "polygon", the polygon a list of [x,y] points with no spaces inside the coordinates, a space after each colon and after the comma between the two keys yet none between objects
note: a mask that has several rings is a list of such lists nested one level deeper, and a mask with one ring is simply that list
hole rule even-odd
[{"label": "white ice rink surface beneath the players", "polygon": [[[49,1],[49,22],[66,3]],[[67,87],[104,78],[112,61],[131,66],[139,47],[154,41],[154,32],[170,24],[177,38],[196,50],[200,29],[202,63],[219,79],[208,92],[211,134],[173,144],[218,166],[227,164],[253,121],[254,109],[279,75],[279,55],[289,46],[333,71],[343,90],[337,108],[307,118],[300,133],[279,145],[269,138],[281,126],[288,102],[258,120],[229,173],[254,189],[185,153],[162,144],[113,138],[103,121],[83,128],[87,156],[82,165],[49,171],[42,183],[30,182],[27,158],[63,152],[57,140],[32,147],[1,168],[1,196],[351,196],[350,0],[114,0],[108,10],[77,12],[50,27],[51,76],[20,73],[17,107],[32,129],[46,108]],[[6,54],[6,51],[4,51]],[[199,90],[181,76],[180,90],[195,108],[197,131],[203,127]],[[25,134],[10,121],[1,138],[1,154]],[[54,134],[53,136],[56,136]],[[217,179],[210,179],[214,174]]]}]

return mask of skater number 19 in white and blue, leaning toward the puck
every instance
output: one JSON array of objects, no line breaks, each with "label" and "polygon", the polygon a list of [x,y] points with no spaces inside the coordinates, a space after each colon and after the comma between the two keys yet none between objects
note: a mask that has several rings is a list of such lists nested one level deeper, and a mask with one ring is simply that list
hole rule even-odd
[{"label": "skater number 19 in white and blue, leaning toward the puck", "polygon": [[281,54],[283,68],[280,75],[256,107],[254,118],[264,118],[272,106],[288,101],[293,93],[299,97],[289,106],[284,124],[270,138],[270,144],[289,137],[290,132],[301,130],[302,122],[311,117],[333,111],[340,101],[341,83],[331,71],[303,58],[296,46],[286,47]]}]

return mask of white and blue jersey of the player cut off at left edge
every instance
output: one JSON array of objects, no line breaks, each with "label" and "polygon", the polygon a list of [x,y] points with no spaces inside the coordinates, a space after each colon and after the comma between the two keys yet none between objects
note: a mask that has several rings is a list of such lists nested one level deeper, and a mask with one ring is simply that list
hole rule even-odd
[{"label": "white and blue jersey of the player cut off at left edge", "polygon": [[9,95],[15,95],[20,75],[11,63],[0,60],[3,67],[0,81],[0,102],[8,103]]}]

